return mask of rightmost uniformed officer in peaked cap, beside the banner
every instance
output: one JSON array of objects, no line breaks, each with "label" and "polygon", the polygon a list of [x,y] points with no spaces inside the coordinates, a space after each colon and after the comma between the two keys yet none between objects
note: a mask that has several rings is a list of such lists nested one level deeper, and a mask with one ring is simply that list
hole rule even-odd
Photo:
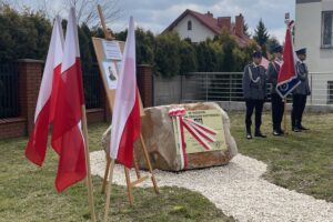
[{"label": "rightmost uniformed officer in peaked cap, beside the banner", "polygon": [[309,85],[309,71],[307,65],[304,63],[306,59],[306,49],[296,51],[299,61],[296,62],[296,73],[301,83],[293,91],[293,110],[292,110],[292,130],[300,132],[309,130],[302,125],[302,117],[306,104],[306,97],[311,94]]}]

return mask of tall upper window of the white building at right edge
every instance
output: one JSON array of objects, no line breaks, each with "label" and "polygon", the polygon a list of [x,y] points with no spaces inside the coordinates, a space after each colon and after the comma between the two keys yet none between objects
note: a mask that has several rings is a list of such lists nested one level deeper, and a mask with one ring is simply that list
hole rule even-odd
[{"label": "tall upper window of the white building at right edge", "polygon": [[333,47],[333,11],[322,13],[322,48]]}]

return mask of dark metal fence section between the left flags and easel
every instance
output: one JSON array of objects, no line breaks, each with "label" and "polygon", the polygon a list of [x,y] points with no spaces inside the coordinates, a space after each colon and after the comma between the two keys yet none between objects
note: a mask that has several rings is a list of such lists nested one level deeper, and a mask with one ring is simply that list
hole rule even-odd
[{"label": "dark metal fence section between the left flags and easel", "polygon": [[102,81],[98,67],[83,69],[83,90],[87,109],[102,107]]}]

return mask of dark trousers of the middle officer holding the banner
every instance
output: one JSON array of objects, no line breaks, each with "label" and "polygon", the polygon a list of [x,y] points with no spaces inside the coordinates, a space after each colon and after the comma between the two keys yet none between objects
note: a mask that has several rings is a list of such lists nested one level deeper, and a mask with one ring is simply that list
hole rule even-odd
[{"label": "dark trousers of the middle officer holding the banner", "polygon": [[271,94],[271,101],[272,101],[273,130],[281,130],[281,122],[284,112],[284,102],[278,93]]}]

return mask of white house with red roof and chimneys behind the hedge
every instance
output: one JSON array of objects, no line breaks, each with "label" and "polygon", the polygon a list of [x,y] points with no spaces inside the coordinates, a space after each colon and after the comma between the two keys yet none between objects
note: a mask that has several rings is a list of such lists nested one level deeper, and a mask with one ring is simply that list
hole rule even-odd
[{"label": "white house with red roof and chimneys behind the hedge", "polygon": [[213,39],[220,34],[222,30],[228,30],[236,40],[240,47],[250,43],[250,38],[244,34],[244,17],[242,14],[235,17],[235,21],[231,21],[231,17],[214,18],[213,13],[200,13],[186,9],[163,32],[175,31],[181,39],[191,39],[192,42],[205,41],[206,38]]}]

